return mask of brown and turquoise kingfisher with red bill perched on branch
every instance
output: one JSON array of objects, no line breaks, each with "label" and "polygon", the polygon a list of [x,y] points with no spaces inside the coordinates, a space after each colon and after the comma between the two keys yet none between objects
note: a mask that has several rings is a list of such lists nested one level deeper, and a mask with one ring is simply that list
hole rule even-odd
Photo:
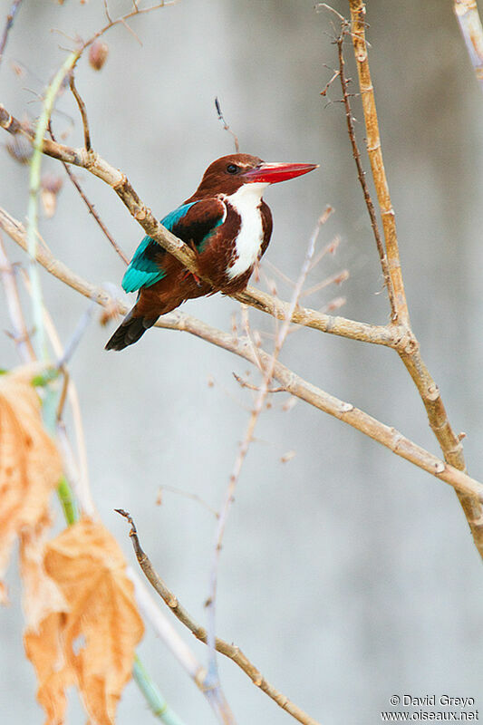
[{"label": "brown and turquoise kingfisher with red bill perched on branch", "polygon": [[125,292],[138,292],[137,302],[105,349],[124,350],[137,343],[161,314],[188,299],[246,289],[272,236],[272,213],[262,198],[265,189],[317,167],[266,163],[244,153],[213,161],[195,193],[161,219],[196,253],[199,275],[189,272],[151,237],[144,237],[121,282]]}]

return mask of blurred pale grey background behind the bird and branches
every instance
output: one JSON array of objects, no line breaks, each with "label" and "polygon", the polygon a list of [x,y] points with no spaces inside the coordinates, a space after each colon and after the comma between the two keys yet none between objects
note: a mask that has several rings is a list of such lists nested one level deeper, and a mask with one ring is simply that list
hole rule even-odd
[{"label": "blurred pale grey background behind the bird and branches", "polygon": [[[3,24],[10,0],[0,3]],[[110,3],[119,14],[129,3]],[[342,288],[305,300],[322,307],[344,295],[342,314],[384,324],[388,304],[355,175],[343,107],[319,95],[336,63],[333,16],[312,0],[181,0],[132,22],[142,47],[122,27],[106,36],[101,73],[86,59],[77,85],[87,104],[92,143],[125,171],[159,217],[197,187],[203,170],[232,152],[217,121],[218,96],[241,150],[265,160],[313,161],[321,169],[266,192],[275,227],[266,258],[295,277],[318,215],[335,213],[321,233],[342,244],[310,277],[314,284],[348,267]],[[368,7],[372,79],[384,160],[401,244],[411,320],[424,360],[440,385],[450,420],[464,430],[470,472],[483,476],[481,176],[483,97],[469,65],[451,3],[372,0]],[[348,3],[333,0],[348,14]],[[104,23],[101,2],[32,3],[15,20],[0,67],[0,99],[22,117],[40,105],[32,91],[62,63],[68,35],[89,37]],[[355,77],[352,49],[346,51]],[[11,61],[28,69],[18,79]],[[355,90],[355,89],[354,89]],[[340,98],[336,84],[329,92]],[[82,143],[66,93],[58,109],[75,119],[67,142]],[[358,100],[354,112],[362,121]],[[54,128],[68,129],[56,114]],[[362,139],[362,122],[359,123]],[[4,145],[6,134],[0,141]],[[27,172],[0,148],[0,200],[16,218],[27,209]],[[369,164],[364,159],[366,169]],[[54,160],[43,169],[63,173]],[[128,254],[142,231],[97,179],[79,179]],[[68,179],[43,237],[76,272],[119,285],[123,266]],[[13,260],[25,257],[5,239]],[[266,272],[272,275],[266,266]],[[87,302],[41,272],[46,303],[66,342]],[[285,298],[289,289],[278,283]],[[229,330],[237,304],[217,295],[184,309]],[[273,332],[250,312],[254,328]],[[9,328],[5,302],[0,327]],[[235,356],[184,333],[151,331],[124,353],[106,353],[110,329],[92,324],[72,360],[92,491],[101,516],[135,564],[124,507],[143,546],[180,601],[205,621],[215,520],[181,488],[219,507],[242,439],[251,392]],[[2,367],[17,362],[2,334]],[[266,338],[266,343],[271,344]],[[304,378],[439,452],[425,411],[395,353],[312,330],[291,335],[282,360]],[[253,373],[252,373],[253,375]],[[210,387],[208,380],[213,379]],[[474,697],[481,710],[483,577],[454,492],[361,433],[299,402],[275,397],[256,432],[237,488],[219,572],[218,633],[236,642],[266,678],[323,723],[375,723],[392,694]],[[282,463],[288,450],[295,458]],[[61,513],[57,520],[62,520]],[[12,605],[2,611],[0,711],[5,723],[41,723],[33,668],[24,659],[16,568]],[[181,625],[176,626],[183,633]],[[204,661],[206,651],[187,640]],[[215,721],[207,701],[150,626],[140,654],[186,723]],[[289,717],[232,662],[219,661],[238,723],[286,723]],[[478,700],[479,697],[479,700]],[[76,697],[70,722],[85,720]],[[153,718],[133,683],[119,723]]]}]

